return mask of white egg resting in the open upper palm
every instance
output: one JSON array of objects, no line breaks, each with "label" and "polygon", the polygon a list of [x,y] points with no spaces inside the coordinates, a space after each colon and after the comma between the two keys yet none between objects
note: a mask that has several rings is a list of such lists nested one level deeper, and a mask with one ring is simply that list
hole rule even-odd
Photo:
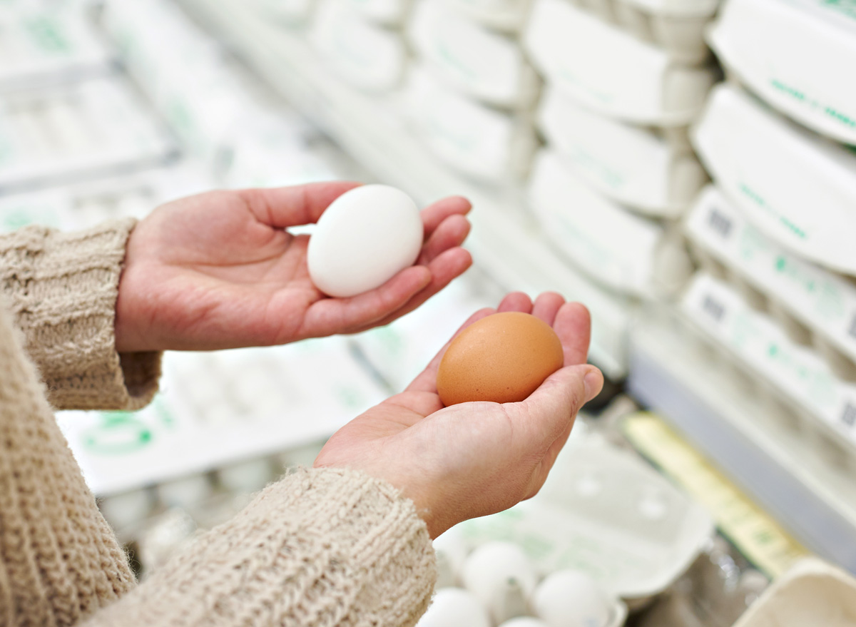
[{"label": "white egg resting in the open upper palm", "polygon": [[407,266],[422,248],[419,207],[399,189],[363,185],[339,196],[309,238],[312,283],[345,298],[374,290]]}]

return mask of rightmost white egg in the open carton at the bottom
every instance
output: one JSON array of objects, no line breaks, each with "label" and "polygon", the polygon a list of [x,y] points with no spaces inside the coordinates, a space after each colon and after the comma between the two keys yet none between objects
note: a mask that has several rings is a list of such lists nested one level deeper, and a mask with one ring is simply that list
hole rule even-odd
[{"label": "rightmost white egg in the open carton at the bottom", "polygon": [[605,627],[612,604],[591,576],[556,570],[538,585],[532,609],[550,627]]}]

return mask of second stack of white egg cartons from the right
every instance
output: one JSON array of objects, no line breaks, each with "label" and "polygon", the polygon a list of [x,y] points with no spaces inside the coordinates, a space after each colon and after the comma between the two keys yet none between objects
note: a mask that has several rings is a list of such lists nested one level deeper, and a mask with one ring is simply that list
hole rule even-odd
[{"label": "second stack of white egg cartons from the right", "polygon": [[707,181],[687,127],[719,75],[702,36],[715,10],[716,0],[534,0],[523,40],[544,77],[547,147],[532,211],[613,290],[669,295],[692,271],[675,219]]}]

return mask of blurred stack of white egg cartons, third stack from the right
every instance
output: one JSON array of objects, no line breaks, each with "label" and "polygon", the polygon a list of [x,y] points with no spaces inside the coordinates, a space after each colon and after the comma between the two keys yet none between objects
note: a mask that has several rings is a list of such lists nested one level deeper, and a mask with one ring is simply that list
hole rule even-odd
[{"label": "blurred stack of white egg cartons, third stack from the right", "polygon": [[540,81],[520,46],[528,0],[416,0],[406,106],[431,152],[490,183],[526,175]]}]

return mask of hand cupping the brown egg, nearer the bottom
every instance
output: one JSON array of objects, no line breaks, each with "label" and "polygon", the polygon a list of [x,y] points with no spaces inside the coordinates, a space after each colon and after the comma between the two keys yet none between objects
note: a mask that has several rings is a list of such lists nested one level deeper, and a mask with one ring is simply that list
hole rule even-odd
[{"label": "hand cupping the brown egg, nearer the bottom", "polygon": [[[314,465],[360,469],[398,487],[416,504],[432,538],[538,493],[577,412],[603,386],[603,375],[586,365],[591,325],[579,303],[545,293],[533,304],[525,294],[514,293],[502,299],[497,311],[534,314],[562,340],[564,366],[525,401],[443,408],[437,367],[446,344],[406,391],[339,429]],[[455,337],[493,313],[473,314]]]}]

